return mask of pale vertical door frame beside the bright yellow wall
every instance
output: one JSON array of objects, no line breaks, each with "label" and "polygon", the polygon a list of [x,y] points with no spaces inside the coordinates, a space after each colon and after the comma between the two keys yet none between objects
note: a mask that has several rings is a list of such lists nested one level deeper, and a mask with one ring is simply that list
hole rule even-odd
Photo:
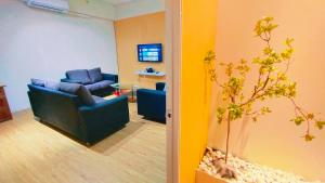
[{"label": "pale vertical door frame beside the bright yellow wall", "polygon": [[167,183],[180,182],[181,3],[166,0]]}]

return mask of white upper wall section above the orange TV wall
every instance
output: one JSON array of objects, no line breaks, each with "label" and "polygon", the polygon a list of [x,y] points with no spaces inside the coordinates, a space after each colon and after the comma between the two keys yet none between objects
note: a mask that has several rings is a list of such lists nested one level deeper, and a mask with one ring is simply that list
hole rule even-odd
[{"label": "white upper wall section above the orange TV wall", "polygon": [[135,0],[116,5],[115,18],[121,19],[165,11],[165,0]]}]

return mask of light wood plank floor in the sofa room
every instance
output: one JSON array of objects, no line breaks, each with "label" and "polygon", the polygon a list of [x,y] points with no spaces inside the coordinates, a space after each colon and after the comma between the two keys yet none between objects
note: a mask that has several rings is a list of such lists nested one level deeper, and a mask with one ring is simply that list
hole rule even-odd
[{"label": "light wood plank floor in the sofa room", "polygon": [[165,183],[166,126],[142,119],[88,148],[34,120],[0,123],[0,183]]}]

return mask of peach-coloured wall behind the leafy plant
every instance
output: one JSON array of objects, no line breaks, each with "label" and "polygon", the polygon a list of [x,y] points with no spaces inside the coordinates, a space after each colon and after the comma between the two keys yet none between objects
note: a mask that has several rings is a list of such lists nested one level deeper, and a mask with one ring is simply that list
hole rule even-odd
[{"label": "peach-coloured wall behind the leafy plant", "polygon": [[[325,118],[324,6],[324,0],[219,0],[218,58],[238,61],[261,53],[260,41],[252,35],[255,23],[261,16],[274,16],[280,24],[273,37],[280,43],[277,48],[284,48],[287,36],[295,38],[296,53],[288,74],[298,82],[297,101]],[[248,82],[256,80],[250,76]],[[325,130],[313,131],[316,139],[306,143],[299,138],[306,127],[297,128],[289,121],[294,115],[290,103],[275,100],[268,104],[273,113],[258,123],[234,122],[232,152],[251,161],[325,181]],[[223,134],[224,130],[213,123],[209,144],[224,147]]]}]

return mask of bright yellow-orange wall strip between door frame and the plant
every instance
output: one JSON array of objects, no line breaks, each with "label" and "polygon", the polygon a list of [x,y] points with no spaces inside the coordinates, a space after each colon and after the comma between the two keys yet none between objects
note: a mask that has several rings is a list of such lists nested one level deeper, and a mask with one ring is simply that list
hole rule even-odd
[{"label": "bright yellow-orange wall strip between door frame and the plant", "polygon": [[194,183],[207,143],[210,84],[204,57],[214,50],[217,0],[182,2],[180,182]]}]

